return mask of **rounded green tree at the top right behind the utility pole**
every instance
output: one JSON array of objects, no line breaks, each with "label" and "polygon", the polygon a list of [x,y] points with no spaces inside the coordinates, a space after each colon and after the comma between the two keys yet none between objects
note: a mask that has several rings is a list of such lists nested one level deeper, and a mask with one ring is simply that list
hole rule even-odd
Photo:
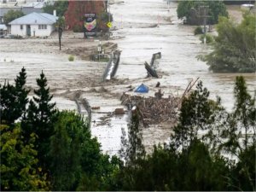
[{"label": "rounded green tree at the top right behind the utility pole", "polygon": [[194,8],[199,10],[200,6],[209,6],[207,15],[210,17],[207,19],[207,24],[218,23],[218,16],[228,16],[228,12],[223,1],[179,1],[177,5],[177,17],[182,19],[183,17],[189,21],[191,18],[190,9]]}]

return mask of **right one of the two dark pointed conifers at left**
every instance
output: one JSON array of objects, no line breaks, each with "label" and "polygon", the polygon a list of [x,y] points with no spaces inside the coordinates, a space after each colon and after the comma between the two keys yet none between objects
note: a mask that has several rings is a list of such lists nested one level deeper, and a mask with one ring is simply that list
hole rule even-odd
[{"label": "right one of the two dark pointed conifers at left", "polygon": [[47,79],[44,73],[37,79],[38,89],[34,90],[33,101],[29,102],[26,117],[22,119],[21,127],[24,136],[35,133],[38,137],[36,149],[38,150],[39,164],[43,168],[49,167],[49,137],[54,134],[55,103],[50,103],[53,96],[49,94]]}]

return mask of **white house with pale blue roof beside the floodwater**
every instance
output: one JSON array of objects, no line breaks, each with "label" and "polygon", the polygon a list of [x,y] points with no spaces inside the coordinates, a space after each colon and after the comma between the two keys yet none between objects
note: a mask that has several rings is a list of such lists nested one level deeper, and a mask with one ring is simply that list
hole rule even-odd
[{"label": "white house with pale blue roof beside the floodwater", "polygon": [[55,15],[44,13],[32,13],[9,22],[12,35],[22,37],[45,37],[55,30]]}]

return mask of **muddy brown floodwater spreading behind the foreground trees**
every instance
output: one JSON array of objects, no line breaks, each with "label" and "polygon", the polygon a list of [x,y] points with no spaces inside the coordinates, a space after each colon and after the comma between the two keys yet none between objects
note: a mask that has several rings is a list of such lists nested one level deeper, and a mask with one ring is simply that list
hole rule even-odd
[{"label": "muddy brown floodwater spreading behind the foreground trees", "polygon": [[[74,99],[81,98],[86,98],[91,107],[100,107],[92,110],[91,131],[108,154],[117,153],[121,128],[127,130],[127,114],[113,115],[115,108],[124,108],[119,97],[139,84],[148,85],[149,92],[145,96],[154,96],[157,82],[164,96],[181,96],[191,79],[200,78],[211,91],[211,98],[221,96],[224,107],[230,110],[234,102],[234,80],[241,74],[211,73],[205,62],[197,61],[196,55],[210,49],[194,36],[194,26],[183,26],[181,20],[177,20],[176,8],[177,3],[171,3],[168,10],[163,0],[116,0],[110,6],[115,30],[108,42],[118,44],[122,52],[116,79],[109,82],[102,82],[107,63],[81,60],[79,56],[83,54],[73,51],[96,49],[99,42],[84,40],[81,33],[64,32],[62,51],[56,46],[56,35],[48,39],[0,39],[0,83],[3,84],[4,79],[13,82],[24,66],[27,86],[35,88],[35,79],[44,70],[54,101],[61,110],[77,110]],[[102,40],[104,43],[107,41]],[[143,63],[150,62],[156,52],[162,54],[156,62],[160,79],[146,79]],[[79,56],[70,62],[68,54]],[[253,93],[255,73],[242,75]],[[85,113],[83,108],[82,113]],[[149,126],[143,129],[143,142],[150,149],[154,143],[168,141],[171,132],[170,125],[165,123]]]}]

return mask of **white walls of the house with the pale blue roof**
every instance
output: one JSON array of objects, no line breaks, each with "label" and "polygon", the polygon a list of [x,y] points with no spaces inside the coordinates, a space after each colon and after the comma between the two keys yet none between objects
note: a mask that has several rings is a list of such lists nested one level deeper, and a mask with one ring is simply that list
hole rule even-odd
[{"label": "white walls of the house with the pale blue roof", "polygon": [[[26,37],[26,27],[27,25],[23,25],[23,29],[20,29],[20,25],[11,25],[11,34],[20,35],[22,37]],[[55,27],[52,25],[46,25],[46,29],[44,27],[40,27],[39,25],[30,25],[31,28],[31,36],[35,37],[45,37],[50,36],[50,34],[55,30]]]}]

